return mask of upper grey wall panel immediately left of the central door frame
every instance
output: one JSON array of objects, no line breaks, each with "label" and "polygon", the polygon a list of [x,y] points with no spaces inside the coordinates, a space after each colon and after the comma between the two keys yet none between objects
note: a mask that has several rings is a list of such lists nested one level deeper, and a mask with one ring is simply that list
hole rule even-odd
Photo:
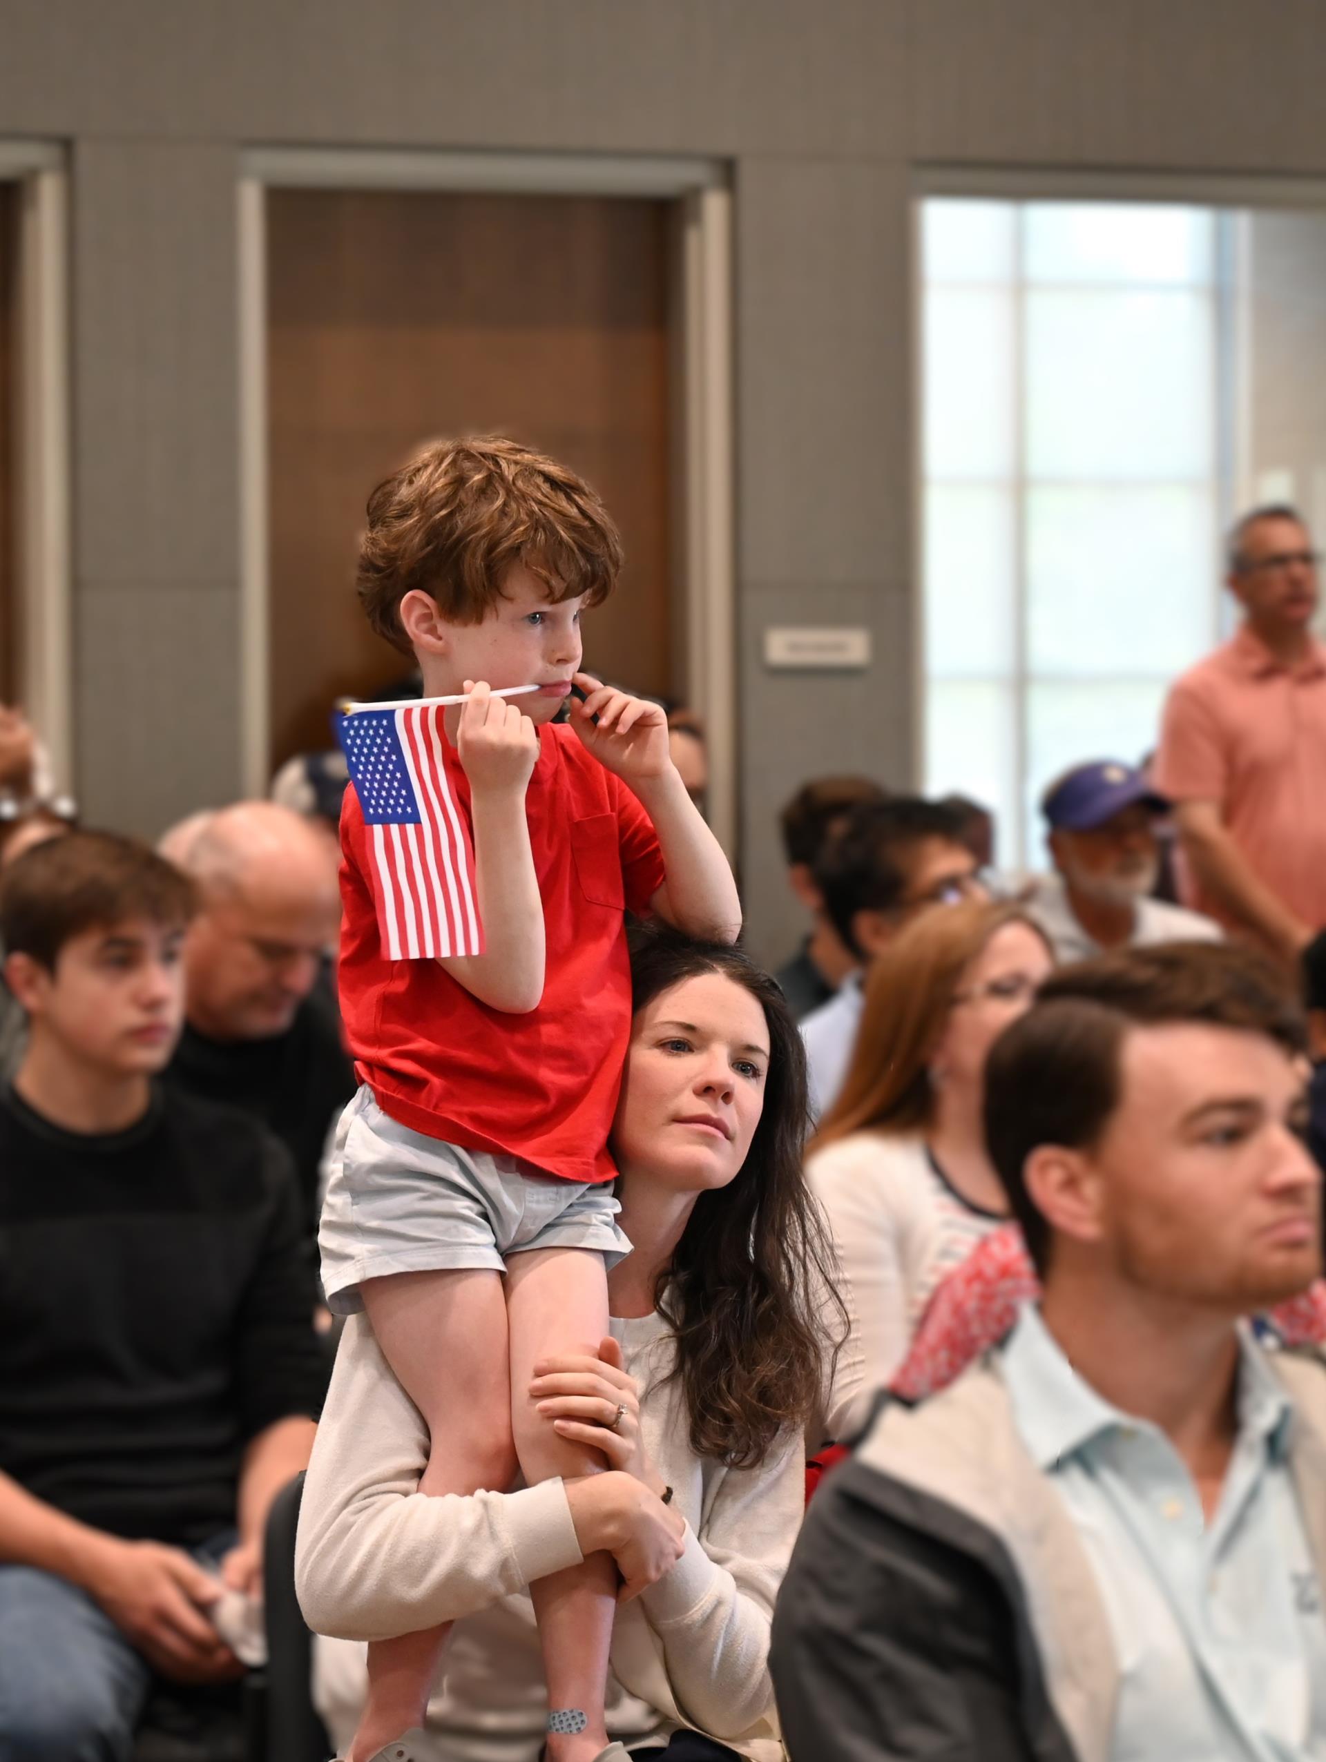
[{"label": "upper grey wall panel immediately left of the central door frame", "polygon": [[238,573],[235,155],[74,153],[74,532],[81,581]]}]

